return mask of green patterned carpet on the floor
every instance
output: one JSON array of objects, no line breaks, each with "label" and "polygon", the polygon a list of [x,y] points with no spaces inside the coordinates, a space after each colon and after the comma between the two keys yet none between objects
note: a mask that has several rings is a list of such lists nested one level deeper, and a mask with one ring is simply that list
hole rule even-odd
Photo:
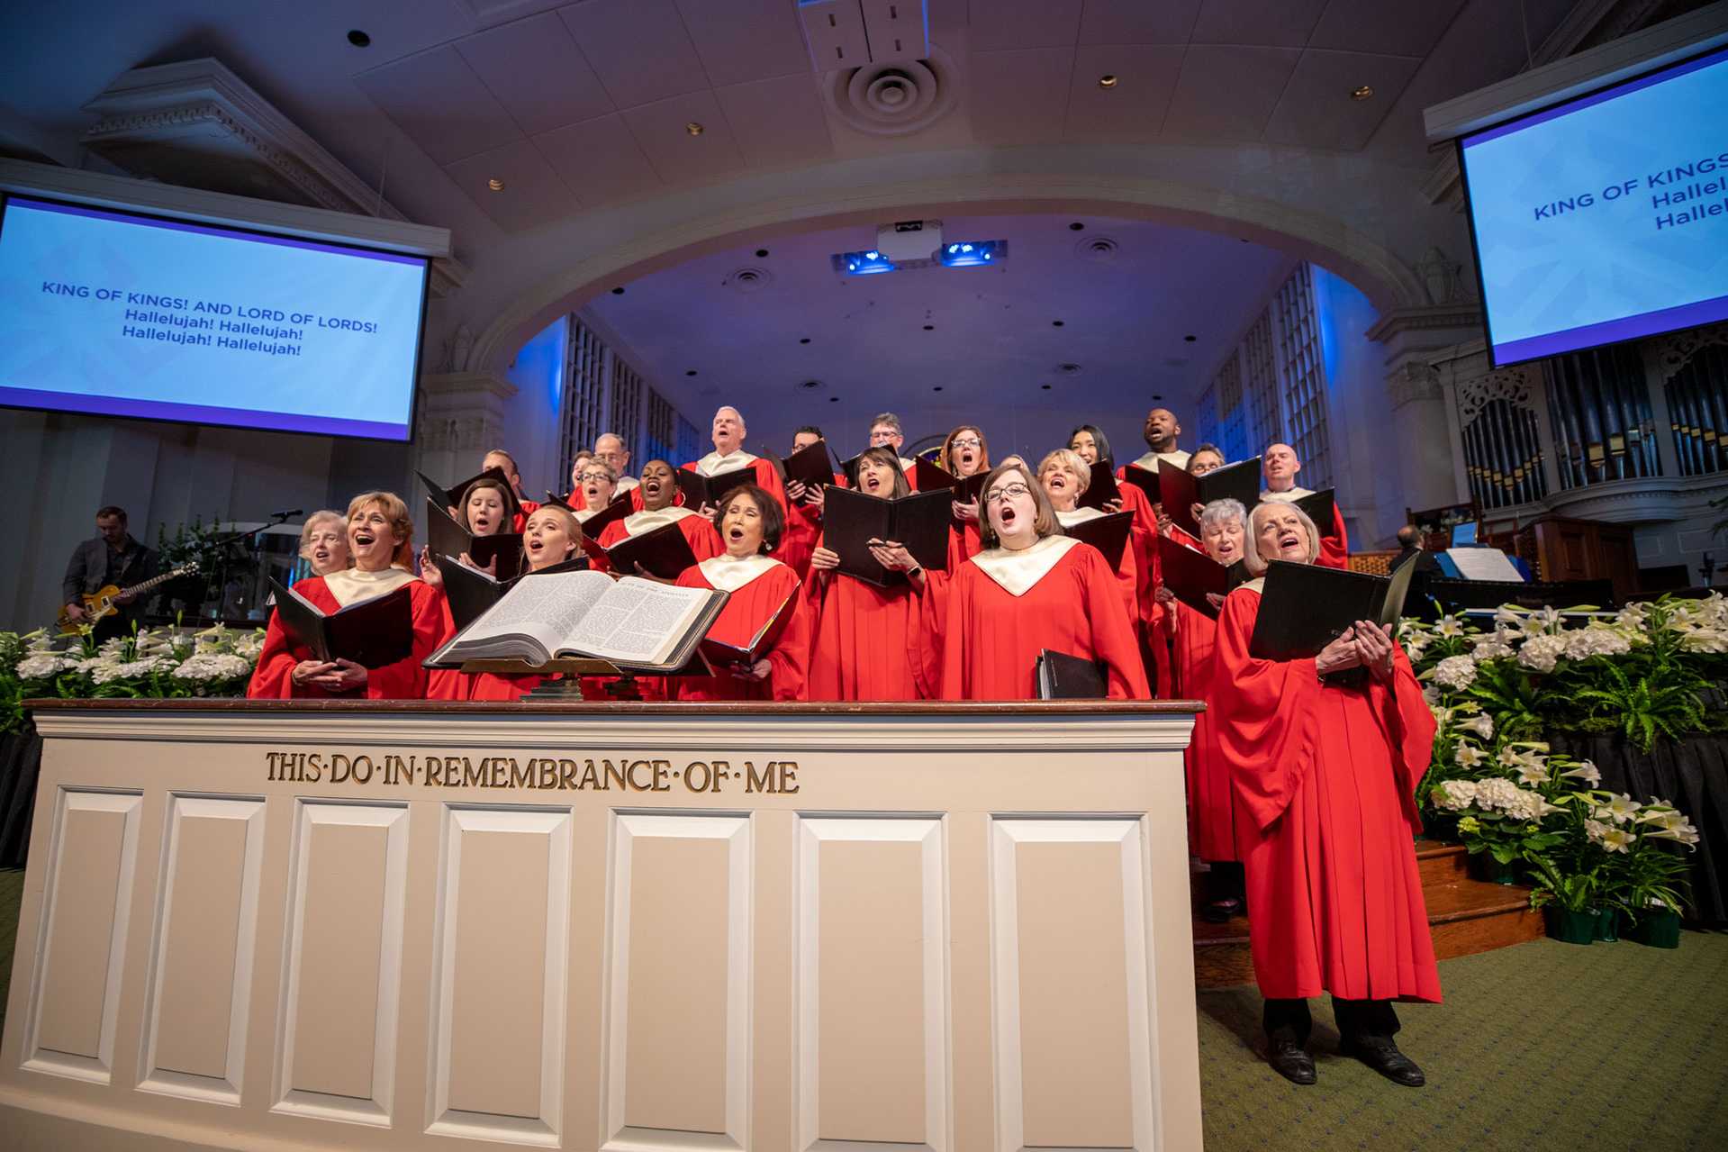
[{"label": "green patterned carpet on the floor", "polygon": [[[22,894],[24,874],[0,870],[0,988]],[[1446,1003],[1400,1007],[1427,1088],[1339,1059],[1324,1002],[1320,1083],[1298,1088],[1258,1055],[1253,988],[1201,993],[1208,1152],[1728,1147],[1728,934],[1683,932],[1676,951],[1543,939],[1445,960],[1439,979]]]}]

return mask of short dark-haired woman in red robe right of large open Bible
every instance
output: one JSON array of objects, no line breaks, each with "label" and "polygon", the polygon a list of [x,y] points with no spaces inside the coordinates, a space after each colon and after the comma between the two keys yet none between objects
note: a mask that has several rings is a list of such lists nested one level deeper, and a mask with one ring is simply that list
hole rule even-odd
[{"label": "short dark-haired woman in red robe right of large open Bible", "polygon": [[798,576],[769,557],[785,526],[779,503],[755,484],[726,495],[721,540],[726,552],[677,578],[681,588],[731,593],[708,638],[746,647],[776,614],[790,614],[769,654],[727,676],[669,676],[681,701],[802,701],[810,652],[810,616]]}]

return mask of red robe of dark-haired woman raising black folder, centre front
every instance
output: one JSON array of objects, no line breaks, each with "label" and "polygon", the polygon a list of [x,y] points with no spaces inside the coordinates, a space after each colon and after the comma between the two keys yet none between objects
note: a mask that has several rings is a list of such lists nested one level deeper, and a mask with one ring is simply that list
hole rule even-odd
[{"label": "red robe of dark-haired woman raising black folder, centre front", "polygon": [[916,588],[878,588],[842,573],[817,573],[807,588],[816,614],[807,699],[935,699],[935,662]]}]

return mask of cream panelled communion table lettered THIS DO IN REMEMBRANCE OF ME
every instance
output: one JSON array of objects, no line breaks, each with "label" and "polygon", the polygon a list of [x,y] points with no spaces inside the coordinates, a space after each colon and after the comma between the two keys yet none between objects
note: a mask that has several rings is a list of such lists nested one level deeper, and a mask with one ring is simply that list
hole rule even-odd
[{"label": "cream panelled communion table lettered THIS DO IN REMEMBRANCE OF ME", "polygon": [[1191,1152],[1196,707],[36,702],[0,1145]]}]

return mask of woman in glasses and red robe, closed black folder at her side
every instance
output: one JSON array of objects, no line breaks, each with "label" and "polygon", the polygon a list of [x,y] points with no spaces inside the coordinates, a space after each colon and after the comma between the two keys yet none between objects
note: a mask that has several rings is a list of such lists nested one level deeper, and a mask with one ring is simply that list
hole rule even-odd
[{"label": "woman in glasses and red robe, closed black folder at her side", "polygon": [[1044,649],[1102,661],[1111,697],[1147,699],[1134,624],[1104,557],[1061,534],[1025,464],[997,465],[983,493],[983,552],[930,598],[942,605],[942,699],[1037,699]]}]

